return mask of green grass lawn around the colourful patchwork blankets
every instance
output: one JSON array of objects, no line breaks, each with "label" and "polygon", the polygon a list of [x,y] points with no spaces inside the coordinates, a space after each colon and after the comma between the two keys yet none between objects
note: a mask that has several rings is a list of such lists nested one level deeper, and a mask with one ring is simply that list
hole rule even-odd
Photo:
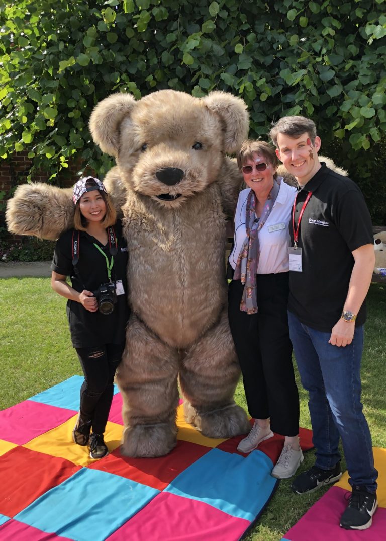
[{"label": "green grass lawn around the colourful patchwork blankets", "polygon": [[[70,342],[66,300],[52,291],[50,279],[2,279],[0,291],[0,408],[3,409],[82,372]],[[386,447],[385,286],[371,285],[368,312],[362,362],[362,397],[373,444]],[[307,393],[301,387],[297,371],[296,375],[301,425],[310,428]],[[236,400],[245,407],[242,382],[237,387]],[[313,454],[312,451],[305,454],[302,470],[314,463]],[[248,536],[248,541],[278,541],[323,493],[320,490],[308,496],[295,496],[290,484],[290,480],[281,481],[267,511]]]}]

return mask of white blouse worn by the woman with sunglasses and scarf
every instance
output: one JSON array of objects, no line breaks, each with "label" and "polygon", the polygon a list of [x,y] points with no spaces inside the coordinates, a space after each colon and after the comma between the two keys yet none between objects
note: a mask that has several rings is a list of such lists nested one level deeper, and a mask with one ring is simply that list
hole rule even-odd
[{"label": "white blouse worn by the woman with sunglasses and scarf", "polygon": [[[250,188],[242,190],[238,195],[235,214],[235,246],[229,256],[229,263],[236,268],[238,255],[247,237],[245,214]],[[260,256],[257,274],[276,274],[289,271],[288,247],[290,245],[289,223],[296,188],[281,181],[279,193],[272,207],[268,220],[258,232]],[[257,227],[257,223],[252,229]]]}]

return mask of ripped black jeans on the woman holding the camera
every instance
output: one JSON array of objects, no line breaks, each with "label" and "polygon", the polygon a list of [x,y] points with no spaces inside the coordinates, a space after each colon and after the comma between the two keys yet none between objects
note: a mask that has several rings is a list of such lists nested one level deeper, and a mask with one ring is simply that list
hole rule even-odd
[{"label": "ripped black jeans on the woman holding the camera", "polygon": [[81,387],[81,419],[91,421],[92,432],[103,434],[114,393],[114,375],[121,362],[123,344],[77,347],[84,373]]}]

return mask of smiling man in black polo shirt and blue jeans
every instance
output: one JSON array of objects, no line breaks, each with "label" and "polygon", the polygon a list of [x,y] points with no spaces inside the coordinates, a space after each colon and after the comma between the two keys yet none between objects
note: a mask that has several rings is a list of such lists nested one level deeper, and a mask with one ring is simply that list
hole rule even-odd
[{"label": "smiling man in black polo shirt and blue jeans", "polygon": [[352,493],[340,525],[365,530],[377,508],[378,475],[360,373],[364,299],[375,263],[370,215],[356,184],[319,161],[314,122],[287,116],[270,136],[300,187],[290,223],[288,320],[309,392],[316,461],[294,480],[292,490],[311,492],[341,477],[341,437]]}]

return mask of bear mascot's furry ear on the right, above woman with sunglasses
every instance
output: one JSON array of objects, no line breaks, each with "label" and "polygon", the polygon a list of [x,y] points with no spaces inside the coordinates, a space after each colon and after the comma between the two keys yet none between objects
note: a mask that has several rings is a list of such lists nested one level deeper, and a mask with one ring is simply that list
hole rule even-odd
[{"label": "bear mascot's furry ear on the right, above woman with sunglasses", "polygon": [[247,138],[249,131],[249,114],[244,100],[229,92],[214,91],[202,98],[208,109],[221,116],[224,126],[224,150],[232,154]]}]

